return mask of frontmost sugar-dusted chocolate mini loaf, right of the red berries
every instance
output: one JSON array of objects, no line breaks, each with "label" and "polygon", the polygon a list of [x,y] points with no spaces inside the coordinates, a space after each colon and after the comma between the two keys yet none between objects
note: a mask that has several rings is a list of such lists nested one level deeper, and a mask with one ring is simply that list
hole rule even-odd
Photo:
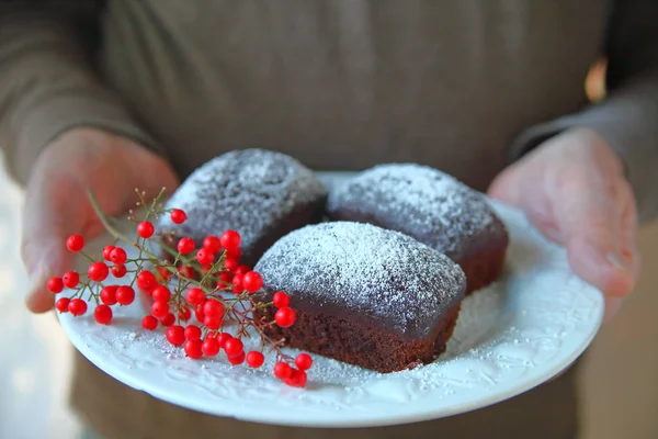
[{"label": "frontmost sugar-dusted chocolate mini loaf, right of the red berries", "polygon": [[[432,362],[457,320],[466,278],[450,258],[398,232],[333,222],[292,232],[256,266],[264,300],[285,291],[297,313],[269,336],[378,372]],[[268,318],[275,309],[266,307]],[[257,313],[258,314],[258,313]]]}]

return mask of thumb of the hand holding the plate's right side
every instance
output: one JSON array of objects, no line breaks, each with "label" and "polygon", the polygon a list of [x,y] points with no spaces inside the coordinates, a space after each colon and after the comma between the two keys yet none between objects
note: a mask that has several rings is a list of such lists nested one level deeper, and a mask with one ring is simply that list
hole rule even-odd
[{"label": "thumb of the hand holding the plate's right side", "polygon": [[609,296],[628,294],[634,267],[622,234],[620,183],[570,176],[552,193],[555,217],[566,241],[569,262],[583,280]]}]

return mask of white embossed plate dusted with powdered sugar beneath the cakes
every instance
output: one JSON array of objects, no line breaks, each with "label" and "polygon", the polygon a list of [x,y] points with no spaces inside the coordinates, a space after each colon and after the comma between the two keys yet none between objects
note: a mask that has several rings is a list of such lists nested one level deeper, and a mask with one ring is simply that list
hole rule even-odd
[{"label": "white embossed plate dusted with powdered sugar beneath the cakes", "polygon": [[[435,419],[510,398],[567,368],[590,344],[603,297],[569,270],[564,250],[520,212],[495,204],[510,229],[507,271],[465,300],[447,351],[434,363],[379,374],[315,356],[307,389],[224,358],[190,360],[161,329],[141,329],[144,305],[114,307],[111,326],[60,316],[72,344],[116,380],[216,416],[306,427],[373,427]],[[104,240],[107,243],[107,240]]]}]

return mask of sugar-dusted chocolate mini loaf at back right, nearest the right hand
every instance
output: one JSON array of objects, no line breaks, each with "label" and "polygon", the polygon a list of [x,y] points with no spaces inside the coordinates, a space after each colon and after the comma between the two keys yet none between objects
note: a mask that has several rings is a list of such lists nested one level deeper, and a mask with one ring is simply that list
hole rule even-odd
[{"label": "sugar-dusted chocolate mini loaf at back right, nearest the right hand", "polygon": [[331,191],[327,215],[401,232],[445,254],[467,279],[467,294],[496,281],[509,236],[479,192],[436,169],[379,165]]}]

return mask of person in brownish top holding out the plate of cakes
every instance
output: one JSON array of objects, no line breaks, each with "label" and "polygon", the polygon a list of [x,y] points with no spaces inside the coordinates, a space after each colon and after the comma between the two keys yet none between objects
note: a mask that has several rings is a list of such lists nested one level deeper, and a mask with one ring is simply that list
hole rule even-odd
[{"label": "person in brownish top holding out the plate of cakes", "polygon": [[[413,161],[521,207],[606,296],[633,290],[636,230],[658,211],[658,2],[1,0],[0,144],[25,184],[27,307],[71,264],[64,240],[134,188],[174,190],[247,146],[318,170]],[[606,97],[583,81],[606,60]],[[73,405],[104,438],[331,429],[214,418],[128,389],[78,357]],[[575,370],[489,408],[344,429],[345,438],[574,438]]]}]

